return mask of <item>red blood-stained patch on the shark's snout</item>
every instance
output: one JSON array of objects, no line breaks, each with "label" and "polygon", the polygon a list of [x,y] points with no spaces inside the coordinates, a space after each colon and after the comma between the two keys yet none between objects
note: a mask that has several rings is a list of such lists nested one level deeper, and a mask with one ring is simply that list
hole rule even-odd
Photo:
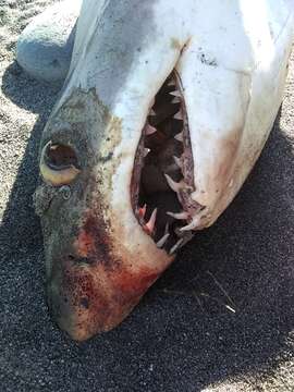
[{"label": "red blood-stained patch on the shark's snout", "polygon": [[[65,262],[63,290],[75,314],[77,328],[107,331],[133,309],[160,271],[130,267],[127,255],[113,256],[105,222],[88,216],[74,243],[77,260]],[[123,252],[123,250],[122,250]],[[84,264],[83,258],[91,260]]]}]

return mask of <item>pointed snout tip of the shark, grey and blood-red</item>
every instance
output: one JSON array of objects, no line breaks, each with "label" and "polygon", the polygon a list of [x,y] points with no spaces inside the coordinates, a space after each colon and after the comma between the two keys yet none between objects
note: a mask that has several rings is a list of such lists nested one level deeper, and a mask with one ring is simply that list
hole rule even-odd
[{"label": "pointed snout tip of the shark, grey and blood-red", "polygon": [[126,262],[128,255],[110,250],[111,238],[105,240],[107,253],[99,242],[86,221],[71,249],[50,262],[48,305],[58,326],[76,341],[118,326],[161,273],[139,258]]}]

